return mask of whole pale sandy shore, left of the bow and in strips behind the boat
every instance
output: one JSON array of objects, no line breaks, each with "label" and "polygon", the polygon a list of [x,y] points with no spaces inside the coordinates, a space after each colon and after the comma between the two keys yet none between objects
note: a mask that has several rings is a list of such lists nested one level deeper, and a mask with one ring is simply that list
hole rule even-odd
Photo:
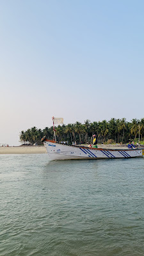
[{"label": "whole pale sandy shore, left of the bow and in strips behind the boat", "polygon": [[[88,145],[81,145],[88,146]],[[98,148],[127,148],[125,145],[98,145]],[[45,154],[44,146],[0,147],[0,154]]]}]

